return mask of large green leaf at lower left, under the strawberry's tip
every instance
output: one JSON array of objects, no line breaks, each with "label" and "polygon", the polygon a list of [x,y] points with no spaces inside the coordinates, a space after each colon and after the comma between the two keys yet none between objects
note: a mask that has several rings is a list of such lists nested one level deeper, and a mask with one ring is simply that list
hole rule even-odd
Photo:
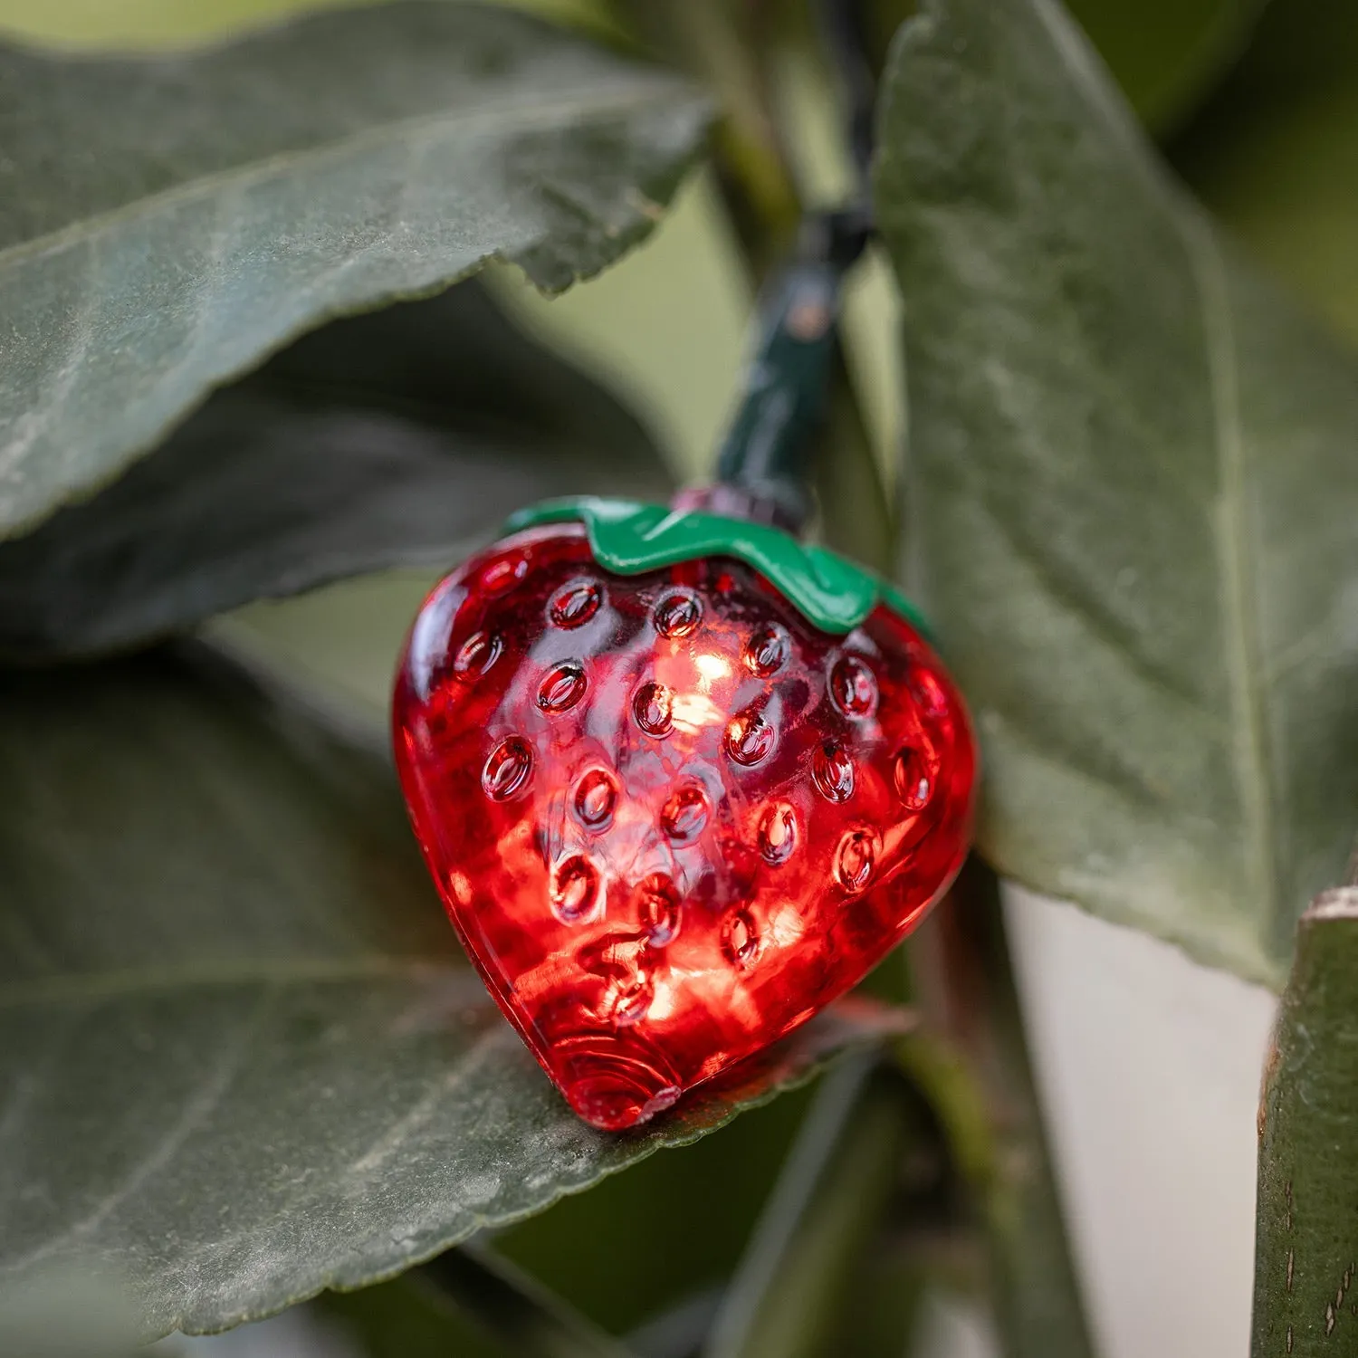
[{"label": "large green leaf at lower left, under the strawberry's tip", "polygon": [[0,1294],[145,1332],[390,1277],[877,1040],[827,1012],[627,1135],[580,1123],[454,941],[379,756],[166,656],[0,680]]}]

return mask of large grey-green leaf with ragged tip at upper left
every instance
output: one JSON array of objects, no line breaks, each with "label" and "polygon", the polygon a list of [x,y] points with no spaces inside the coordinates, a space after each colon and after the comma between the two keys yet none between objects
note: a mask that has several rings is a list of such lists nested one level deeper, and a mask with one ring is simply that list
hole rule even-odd
[{"label": "large grey-green leaf with ragged tip at upper left", "polygon": [[196,56],[0,46],[0,536],[335,314],[492,257],[557,291],[661,213],[706,105],[509,10],[345,10]]}]

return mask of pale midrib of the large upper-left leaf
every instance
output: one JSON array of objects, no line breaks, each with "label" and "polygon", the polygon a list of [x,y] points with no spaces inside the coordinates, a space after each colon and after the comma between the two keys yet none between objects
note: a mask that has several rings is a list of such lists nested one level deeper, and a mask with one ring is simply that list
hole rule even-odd
[{"label": "pale midrib of the large upper-left leaf", "polygon": [[337,141],[326,141],[300,149],[280,151],[272,156],[265,156],[262,160],[243,162],[240,166],[227,170],[197,175],[168,189],[160,189],[143,198],[121,204],[117,208],[109,208],[88,217],[80,217],[56,231],[48,231],[0,249],[0,269],[8,269],[31,255],[54,254],[71,244],[81,244],[124,223],[134,221],[139,217],[156,216],[166,206],[178,206],[210,198],[220,189],[230,187],[236,190],[247,187],[300,164],[323,164],[327,160],[340,160],[364,145],[371,144],[378,147],[388,141],[410,140],[414,133],[439,126],[445,126],[449,130],[474,132],[478,124],[486,124],[493,130],[511,134],[531,132],[539,128],[550,128],[565,114],[585,111],[602,117],[644,107],[648,103],[663,103],[668,95],[683,90],[682,84],[668,79],[657,83],[657,77],[652,76],[645,83],[641,83],[636,77],[629,77],[622,87],[608,91],[607,96],[596,96],[587,102],[583,102],[579,96],[569,99],[558,96],[550,103],[538,103],[526,107],[519,99],[498,99],[479,105],[474,110],[424,113],[410,118],[398,118],[392,122],[383,122],[380,126],[341,137]]}]

